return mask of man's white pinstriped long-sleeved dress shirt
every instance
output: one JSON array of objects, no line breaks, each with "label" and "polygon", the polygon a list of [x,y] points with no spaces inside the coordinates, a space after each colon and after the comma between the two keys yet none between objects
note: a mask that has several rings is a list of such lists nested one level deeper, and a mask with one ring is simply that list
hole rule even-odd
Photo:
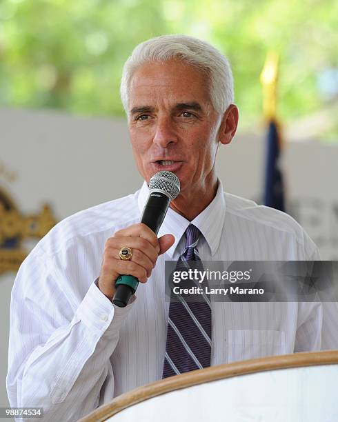
[{"label": "man's white pinstriped long-sleeved dress shirt", "polygon": [[[106,239],[137,223],[147,199],[144,183],[135,194],[68,217],[21,265],[10,308],[12,407],[43,407],[44,421],[76,421],[114,396],[161,379],[169,308],[164,263],[183,252],[190,222],[168,210],[159,236],[172,233],[175,243],[126,308],[112,305],[95,284]],[[204,261],[319,259],[295,220],[224,193],[221,182],[191,223],[203,234]],[[330,316],[321,333],[323,313],[320,303],[212,303],[211,365],[319,350],[323,343],[335,348],[337,321]]]}]

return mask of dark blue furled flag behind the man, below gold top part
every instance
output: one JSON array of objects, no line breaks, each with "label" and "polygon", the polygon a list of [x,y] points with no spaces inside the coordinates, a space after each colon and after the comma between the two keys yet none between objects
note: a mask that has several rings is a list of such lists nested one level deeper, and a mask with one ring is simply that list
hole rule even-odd
[{"label": "dark blue furled flag behind the man, below gold top part", "polygon": [[285,211],[284,181],[279,168],[281,154],[281,139],[279,128],[275,120],[268,125],[268,139],[266,140],[266,172],[264,186],[264,205]]}]

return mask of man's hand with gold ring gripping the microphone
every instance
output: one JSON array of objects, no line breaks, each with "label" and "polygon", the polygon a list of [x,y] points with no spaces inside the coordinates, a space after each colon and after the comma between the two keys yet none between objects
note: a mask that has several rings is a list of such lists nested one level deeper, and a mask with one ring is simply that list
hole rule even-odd
[{"label": "man's hand with gold ring gripping the microphone", "polygon": [[[166,252],[175,242],[172,234],[164,234],[157,239],[156,234],[143,223],[130,225],[107,239],[98,281],[99,289],[112,300],[115,281],[121,274],[133,275],[141,283],[146,283],[159,255]],[[119,250],[123,246],[132,248],[132,258],[123,261]]]}]

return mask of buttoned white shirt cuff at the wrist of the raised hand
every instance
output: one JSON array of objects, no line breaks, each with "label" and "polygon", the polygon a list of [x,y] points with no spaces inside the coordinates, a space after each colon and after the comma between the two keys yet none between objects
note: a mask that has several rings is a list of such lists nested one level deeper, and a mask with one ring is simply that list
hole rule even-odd
[{"label": "buttoned white shirt cuff at the wrist of the raised hand", "polygon": [[128,305],[125,308],[119,308],[99,290],[96,281],[90,285],[75,312],[74,319],[82,321],[92,332],[100,336],[114,335],[121,328],[137,298],[133,294]]}]

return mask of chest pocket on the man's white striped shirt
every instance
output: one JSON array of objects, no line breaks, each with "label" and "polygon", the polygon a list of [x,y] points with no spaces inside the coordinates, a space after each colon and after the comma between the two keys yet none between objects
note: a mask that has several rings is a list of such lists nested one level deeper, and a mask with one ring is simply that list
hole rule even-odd
[{"label": "chest pocket on the man's white striped shirt", "polygon": [[279,330],[228,330],[228,362],[286,354],[286,335]]}]

